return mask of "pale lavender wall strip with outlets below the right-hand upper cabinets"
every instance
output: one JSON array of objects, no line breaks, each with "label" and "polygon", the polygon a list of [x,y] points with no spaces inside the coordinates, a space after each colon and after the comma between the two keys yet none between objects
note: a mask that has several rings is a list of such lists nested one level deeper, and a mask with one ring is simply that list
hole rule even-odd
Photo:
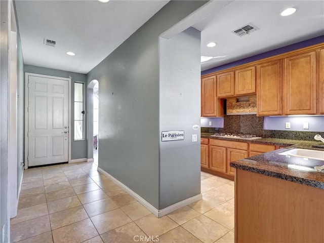
[{"label": "pale lavender wall strip with outlets below the right-hand upper cabinets", "polygon": [[[286,129],[286,123],[290,129]],[[308,122],[309,129],[303,129],[304,122]],[[324,132],[324,116],[265,116],[263,119],[264,130]]]}]

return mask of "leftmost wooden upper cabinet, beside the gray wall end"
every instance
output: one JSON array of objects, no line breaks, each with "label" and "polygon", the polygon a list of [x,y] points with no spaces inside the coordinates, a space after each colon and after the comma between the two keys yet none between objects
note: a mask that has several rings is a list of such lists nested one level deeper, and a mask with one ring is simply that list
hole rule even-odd
[{"label": "leftmost wooden upper cabinet, beside the gray wall end", "polygon": [[217,99],[216,75],[201,78],[201,116],[223,116],[223,100]]}]

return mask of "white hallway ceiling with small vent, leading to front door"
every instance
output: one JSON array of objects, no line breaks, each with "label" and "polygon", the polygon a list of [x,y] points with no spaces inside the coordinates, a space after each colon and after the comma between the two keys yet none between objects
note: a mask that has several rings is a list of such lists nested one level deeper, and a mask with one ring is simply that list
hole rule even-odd
[{"label": "white hallway ceiling with small vent, leading to front door", "polygon": [[88,73],[168,2],[18,0],[24,63]]}]

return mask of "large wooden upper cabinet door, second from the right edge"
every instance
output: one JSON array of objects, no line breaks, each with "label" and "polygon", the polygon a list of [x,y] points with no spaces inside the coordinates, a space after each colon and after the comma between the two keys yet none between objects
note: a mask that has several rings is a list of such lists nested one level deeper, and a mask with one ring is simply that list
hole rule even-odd
[{"label": "large wooden upper cabinet door, second from the right edge", "polygon": [[285,58],[285,114],[316,113],[316,53]]}]

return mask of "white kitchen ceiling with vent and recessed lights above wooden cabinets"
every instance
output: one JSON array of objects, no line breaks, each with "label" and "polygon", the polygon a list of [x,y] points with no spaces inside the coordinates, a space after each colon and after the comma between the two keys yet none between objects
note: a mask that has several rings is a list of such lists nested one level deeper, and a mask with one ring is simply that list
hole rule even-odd
[{"label": "white kitchen ceiling with vent and recessed lights above wooden cabinets", "polygon": [[[281,17],[288,7],[296,13]],[[258,30],[244,36],[231,32],[248,23]],[[206,70],[324,35],[324,1],[233,1],[193,27],[201,31],[201,55],[216,57],[201,63]],[[217,46],[209,48],[209,42]]]}]

